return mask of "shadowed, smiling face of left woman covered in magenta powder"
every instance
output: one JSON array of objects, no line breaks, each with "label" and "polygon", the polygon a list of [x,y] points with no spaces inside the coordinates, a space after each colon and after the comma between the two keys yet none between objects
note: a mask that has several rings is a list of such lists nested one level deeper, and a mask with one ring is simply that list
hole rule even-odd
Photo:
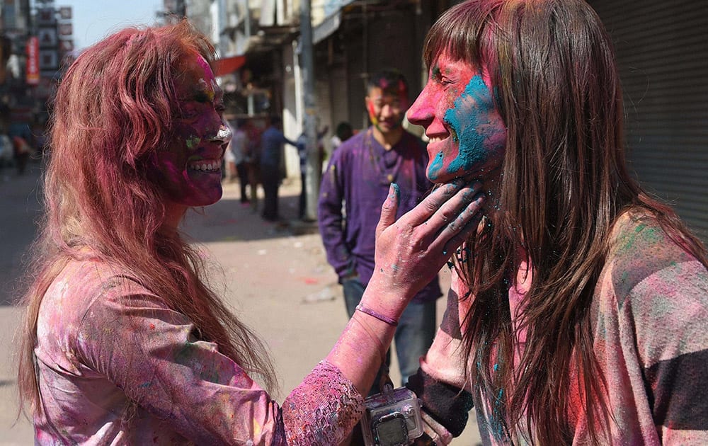
[{"label": "shadowed, smiling face of left woman covered in magenta powder", "polygon": [[154,172],[169,201],[185,207],[212,205],[222,196],[221,166],[232,132],[224,121],[223,92],[209,64],[194,53],[174,79],[176,132],[166,150],[154,152]]}]

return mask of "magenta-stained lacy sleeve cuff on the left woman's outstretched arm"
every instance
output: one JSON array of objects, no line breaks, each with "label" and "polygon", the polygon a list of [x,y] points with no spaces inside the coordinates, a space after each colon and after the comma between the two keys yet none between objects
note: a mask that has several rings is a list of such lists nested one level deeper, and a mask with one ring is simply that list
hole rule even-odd
[{"label": "magenta-stained lacy sleeve cuff on the left woman's outstretched arm", "polygon": [[342,372],[320,362],[282,404],[288,445],[338,445],[364,413],[364,399]]}]

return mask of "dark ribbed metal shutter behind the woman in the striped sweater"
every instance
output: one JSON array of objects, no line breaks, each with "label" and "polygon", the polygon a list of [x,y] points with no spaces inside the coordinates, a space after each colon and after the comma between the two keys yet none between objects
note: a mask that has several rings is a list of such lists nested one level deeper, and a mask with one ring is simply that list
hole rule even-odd
[{"label": "dark ribbed metal shutter behind the woman in the striped sweater", "polygon": [[617,50],[628,159],[708,241],[708,1],[588,1]]}]

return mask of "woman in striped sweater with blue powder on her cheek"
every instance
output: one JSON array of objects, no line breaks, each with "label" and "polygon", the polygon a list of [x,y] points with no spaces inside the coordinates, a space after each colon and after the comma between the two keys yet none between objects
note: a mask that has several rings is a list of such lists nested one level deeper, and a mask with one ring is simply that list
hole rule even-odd
[{"label": "woman in striped sweater with blue powder on her cheek", "polygon": [[706,251],[628,172],[598,16],[468,0],[423,58],[408,118],[430,138],[428,177],[489,195],[408,384],[426,440],[449,443],[474,405],[485,445],[708,444]]}]

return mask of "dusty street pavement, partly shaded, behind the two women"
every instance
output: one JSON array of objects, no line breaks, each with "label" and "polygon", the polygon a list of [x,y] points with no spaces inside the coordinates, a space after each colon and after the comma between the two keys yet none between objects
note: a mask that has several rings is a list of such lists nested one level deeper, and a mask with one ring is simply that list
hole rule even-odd
[{"label": "dusty street pavement, partly shaded, behind the two women", "polygon": [[[31,423],[23,416],[17,419],[13,336],[21,312],[13,302],[41,215],[39,178],[38,164],[24,176],[0,171],[0,445],[33,444]],[[329,353],[347,322],[341,287],[319,234],[312,225],[295,221],[299,181],[286,180],[280,192],[285,224],[264,222],[250,207],[242,207],[237,183],[228,183],[222,200],[188,212],[182,226],[208,259],[214,289],[270,348],[280,384],[273,395],[277,401]],[[441,272],[441,280],[447,290],[447,271]],[[444,309],[443,297],[438,319]],[[400,375],[393,358],[396,384]],[[479,443],[473,411],[467,429],[452,445]]]}]

